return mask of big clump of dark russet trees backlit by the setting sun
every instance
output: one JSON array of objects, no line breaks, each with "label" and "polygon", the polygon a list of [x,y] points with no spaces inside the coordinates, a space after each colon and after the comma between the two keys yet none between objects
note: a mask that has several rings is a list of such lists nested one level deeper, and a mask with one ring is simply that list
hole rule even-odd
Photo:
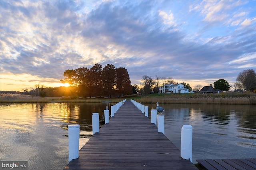
[{"label": "big clump of dark russet trees backlit by the setting sun", "polygon": [[68,69],[64,72],[62,83],[68,83],[76,88],[76,94],[81,97],[96,97],[132,94],[130,76],[126,68],[115,67],[107,64],[104,68],[96,63],[90,69],[80,67],[78,69]]}]

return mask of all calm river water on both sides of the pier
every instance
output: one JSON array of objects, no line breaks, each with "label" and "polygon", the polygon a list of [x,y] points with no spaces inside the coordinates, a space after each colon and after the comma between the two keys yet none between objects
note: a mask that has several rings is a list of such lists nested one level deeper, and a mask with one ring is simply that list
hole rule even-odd
[{"label": "all calm river water on both sides of the pier", "polygon": [[[149,113],[156,105],[148,105]],[[92,136],[92,113],[110,103],[0,104],[0,160],[28,160],[29,169],[68,164],[68,125],[80,124],[80,145]],[[193,126],[196,159],[256,158],[255,105],[170,105],[165,135],[180,148],[182,125]],[[150,115],[150,114],[149,114]]]}]

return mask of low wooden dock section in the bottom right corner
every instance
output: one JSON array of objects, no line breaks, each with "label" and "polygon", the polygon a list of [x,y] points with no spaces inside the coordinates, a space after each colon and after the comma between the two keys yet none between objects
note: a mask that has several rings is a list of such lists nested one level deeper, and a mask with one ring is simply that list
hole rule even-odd
[{"label": "low wooden dock section in the bottom right corner", "polygon": [[256,159],[196,160],[207,170],[256,170]]}]

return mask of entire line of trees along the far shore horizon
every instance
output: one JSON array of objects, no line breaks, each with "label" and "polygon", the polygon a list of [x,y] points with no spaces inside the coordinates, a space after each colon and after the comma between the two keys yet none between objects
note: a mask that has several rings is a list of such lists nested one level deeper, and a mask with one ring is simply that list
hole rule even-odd
[{"label": "entire line of trees along the far shore horizon", "polygon": [[[17,91],[0,91],[0,93],[24,94],[40,97],[92,97],[92,96],[108,96],[112,95],[129,95],[138,94],[148,95],[150,93],[158,93],[158,87],[166,84],[176,84],[172,77],[159,77],[153,79],[148,75],[143,75],[138,85],[131,85],[128,71],[123,67],[115,68],[114,65],[106,65],[102,69],[102,65],[95,64],[92,68],[86,67],[78,69],[70,69],[64,72],[65,79],[62,83],[69,83],[70,87],[45,87],[36,84],[32,90],[24,89],[22,92]],[[182,84],[189,91],[199,92],[202,85],[195,85],[194,88],[189,83]],[[250,92],[256,92],[256,73],[254,69],[246,69],[241,71],[236,78],[236,83],[229,84],[224,79],[219,79],[214,83],[215,89],[229,91],[242,89]]]}]

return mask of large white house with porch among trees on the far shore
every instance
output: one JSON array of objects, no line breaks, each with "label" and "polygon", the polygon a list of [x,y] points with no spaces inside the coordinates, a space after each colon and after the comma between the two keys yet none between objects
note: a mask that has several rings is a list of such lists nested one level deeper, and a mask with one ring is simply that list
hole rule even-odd
[{"label": "large white house with porch among trees on the far shore", "polygon": [[183,84],[166,84],[158,87],[158,93],[189,93]]}]

